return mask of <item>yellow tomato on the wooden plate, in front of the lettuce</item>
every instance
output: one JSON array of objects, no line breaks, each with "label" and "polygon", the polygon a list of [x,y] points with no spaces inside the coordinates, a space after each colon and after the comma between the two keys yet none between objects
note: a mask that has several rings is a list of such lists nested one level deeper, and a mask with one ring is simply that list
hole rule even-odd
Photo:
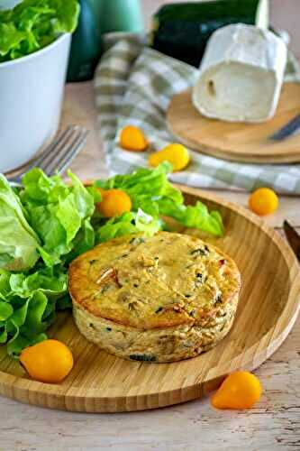
[{"label": "yellow tomato on the wooden plate, in front of the lettuce", "polygon": [[45,340],[26,347],[20,355],[20,362],[32,379],[46,383],[63,381],[74,364],[68,346],[58,340]]}]

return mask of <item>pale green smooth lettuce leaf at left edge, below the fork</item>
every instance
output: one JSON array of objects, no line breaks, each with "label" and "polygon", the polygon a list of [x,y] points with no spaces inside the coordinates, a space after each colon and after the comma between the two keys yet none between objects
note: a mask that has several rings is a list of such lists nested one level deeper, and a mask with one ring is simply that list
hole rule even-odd
[{"label": "pale green smooth lettuce leaf at left edge, below the fork", "polygon": [[20,199],[0,174],[0,268],[25,271],[39,259],[38,235],[29,225]]}]

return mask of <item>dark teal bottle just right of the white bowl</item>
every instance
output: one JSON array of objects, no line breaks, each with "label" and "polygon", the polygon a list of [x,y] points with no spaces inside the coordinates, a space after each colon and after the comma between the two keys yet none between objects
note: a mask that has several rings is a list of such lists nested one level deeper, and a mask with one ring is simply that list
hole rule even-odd
[{"label": "dark teal bottle just right of the white bowl", "polygon": [[67,81],[93,78],[102,52],[101,28],[94,6],[89,0],[80,0],[79,3],[81,10],[77,30],[72,36]]}]

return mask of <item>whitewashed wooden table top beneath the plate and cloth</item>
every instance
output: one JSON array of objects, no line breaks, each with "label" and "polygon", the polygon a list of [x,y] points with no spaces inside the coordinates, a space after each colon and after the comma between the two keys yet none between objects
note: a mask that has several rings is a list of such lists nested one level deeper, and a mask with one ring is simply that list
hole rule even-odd
[{"label": "whitewashed wooden table top beneath the plate and cloth", "polygon": [[[71,169],[83,179],[105,176],[95,132],[90,83],[68,85],[62,122],[92,130]],[[248,195],[219,191],[247,204]],[[270,226],[281,233],[283,218],[300,231],[299,198],[281,197]],[[256,374],[264,394],[254,409],[214,410],[208,399],[139,413],[78,414],[45,410],[0,398],[0,450],[296,450],[300,449],[300,318],[291,334]]]}]

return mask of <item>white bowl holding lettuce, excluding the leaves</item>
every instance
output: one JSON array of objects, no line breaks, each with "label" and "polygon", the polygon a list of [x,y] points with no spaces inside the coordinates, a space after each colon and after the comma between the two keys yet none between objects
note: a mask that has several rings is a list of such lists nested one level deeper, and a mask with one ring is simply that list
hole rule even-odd
[{"label": "white bowl holding lettuce, excluding the leaves", "polygon": [[71,35],[0,63],[0,172],[30,160],[57,131]]}]

